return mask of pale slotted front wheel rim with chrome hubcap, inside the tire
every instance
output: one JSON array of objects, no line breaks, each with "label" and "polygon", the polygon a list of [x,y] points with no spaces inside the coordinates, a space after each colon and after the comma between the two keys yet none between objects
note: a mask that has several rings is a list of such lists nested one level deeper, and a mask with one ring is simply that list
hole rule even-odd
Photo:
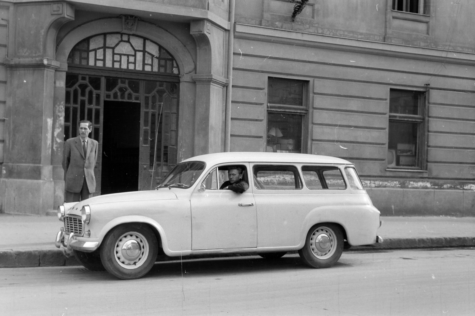
[{"label": "pale slotted front wheel rim with chrome hubcap, inside the tire", "polygon": [[142,266],[148,257],[149,246],[142,234],[130,231],[123,234],[115,244],[115,260],[126,269]]}]

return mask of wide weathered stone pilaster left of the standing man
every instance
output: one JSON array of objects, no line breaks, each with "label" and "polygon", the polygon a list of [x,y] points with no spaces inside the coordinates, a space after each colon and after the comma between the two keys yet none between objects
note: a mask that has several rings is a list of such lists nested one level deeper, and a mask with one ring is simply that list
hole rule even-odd
[{"label": "wide weathered stone pilaster left of the standing man", "polygon": [[59,63],[6,59],[7,103],[2,165],[4,211],[44,215],[53,210],[53,85]]}]

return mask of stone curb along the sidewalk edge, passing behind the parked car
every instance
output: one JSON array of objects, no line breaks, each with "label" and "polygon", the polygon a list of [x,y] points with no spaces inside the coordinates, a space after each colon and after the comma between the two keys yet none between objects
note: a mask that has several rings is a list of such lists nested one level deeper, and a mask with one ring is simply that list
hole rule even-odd
[{"label": "stone curb along the sidewalk edge, passing behind the parked car", "polygon": [[[421,249],[421,248],[453,248],[475,247],[475,237],[432,237],[432,238],[385,238],[384,242],[370,246],[352,246],[348,250],[389,250],[389,249]],[[296,251],[291,251],[296,253]],[[224,256],[188,256],[187,259],[230,257]],[[167,256],[159,258],[163,261],[175,260]],[[21,267],[58,267],[80,266],[74,256],[69,255],[64,249],[47,250],[1,250],[0,268]]]}]

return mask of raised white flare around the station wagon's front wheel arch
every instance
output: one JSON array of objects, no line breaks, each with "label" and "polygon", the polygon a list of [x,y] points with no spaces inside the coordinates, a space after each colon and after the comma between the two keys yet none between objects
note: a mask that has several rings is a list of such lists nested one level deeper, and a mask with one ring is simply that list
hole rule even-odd
[{"label": "raised white flare around the station wagon's front wheel arch", "polygon": [[[152,220],[149,217],[146,216],[140,216],[140,215],[127,215],[127,216],[121,216],[114,218],[113,220],[109,221],[107,224],[104,225],[102,228],[101,232],[99,233],[99,245],[102,243],[102,240],[104,239],[105,235],[112,230],[114,227],[121,225],[121,224],[127,224],[127,223],[146,223],[154,227],[158,233],[160,234],[161,238],[161,245],[163,247],[163,252],[167,256],[179,256],[182,254],[183,256],[191,254],[191,249],[189,250],[183,250],[183,251],[172,251],[168,247],[168,242],[167,242],[167,236],[165,234],[165,231],[161,227],[161,225],[156,222],[155,220]],[[178,253],[178,254],[177,254]]]}]

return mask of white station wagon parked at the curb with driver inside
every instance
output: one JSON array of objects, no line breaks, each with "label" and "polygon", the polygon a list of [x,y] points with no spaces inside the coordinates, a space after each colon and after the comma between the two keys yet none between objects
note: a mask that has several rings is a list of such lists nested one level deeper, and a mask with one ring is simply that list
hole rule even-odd
[{"label": "white station wagon parked at the curb with driver inside", "polygon": [[159,252],[276,259],[298,250],[308,266],[328,268],[343,248],[382,242],[380,212],[354,165],[300,153],[192,157],[156,190],[65,203],[58,217],[58,248],[121,279],[145,275]]}]

